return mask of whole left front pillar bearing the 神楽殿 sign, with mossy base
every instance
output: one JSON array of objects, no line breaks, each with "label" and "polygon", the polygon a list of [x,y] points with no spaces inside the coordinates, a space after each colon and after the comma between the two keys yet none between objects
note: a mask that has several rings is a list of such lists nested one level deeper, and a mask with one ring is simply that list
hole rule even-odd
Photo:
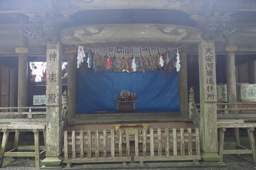
[{"label": "whole left front pillar bearing the \u795e\u697d\u6bbf sign, with mossy base", "polygon": [[46,159],[45,166],[59,166],[62,162],[62,45],[47,42],[46,76]]}]

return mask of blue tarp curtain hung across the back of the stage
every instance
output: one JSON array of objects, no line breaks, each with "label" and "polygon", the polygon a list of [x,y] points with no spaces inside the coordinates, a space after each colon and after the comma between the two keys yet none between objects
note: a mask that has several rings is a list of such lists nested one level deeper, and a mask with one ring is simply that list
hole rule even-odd
[{"label": "blue tarp curtain hung across the back of the stage", "polygon": [[116,111],[116,95],[122,90],[137,93],[138,111],[179,110],[178,72],[87,72],[78,75],[78,114]]}]

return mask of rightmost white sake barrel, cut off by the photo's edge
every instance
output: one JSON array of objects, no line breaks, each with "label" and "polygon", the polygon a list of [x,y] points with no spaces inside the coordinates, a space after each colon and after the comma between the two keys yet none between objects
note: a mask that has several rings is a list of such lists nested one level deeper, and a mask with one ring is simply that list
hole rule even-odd
[{"label": "rightmost white sake barrel, cut off by the photo's edge", "polygon": [[256,84],[238,84],[238,99],[241,102],[256,102]]}]

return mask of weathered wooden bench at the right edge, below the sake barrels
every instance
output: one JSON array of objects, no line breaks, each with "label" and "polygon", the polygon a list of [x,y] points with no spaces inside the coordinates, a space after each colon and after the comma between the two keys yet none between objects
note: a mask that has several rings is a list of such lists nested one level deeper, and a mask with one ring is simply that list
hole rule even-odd
[{"label": "weathered wooden bench at the right edge, below the sake barrels", "polygon": [[[218,120],[217,121],[217,127],[219,129],[219,156],[223,158],[223,154],[253,154],[253,161],[254,164],[256,164],[256,149],[255,149],[255,142],[253,137],[253,131],[256,127],[256,123],[244,123],[242,119],[232,119],[232,120]],[[224,150],[224,133],[226,131],[226,128],[235,128],[235,146],[236,149],[228,149]],[[250,149],[247,149],[244,146],[240,145],[240,139],[239,139],[239,128],[247,129],[248,132],[248,138],[250,141]],[[222,159],[221,159],[222,161]]]}]

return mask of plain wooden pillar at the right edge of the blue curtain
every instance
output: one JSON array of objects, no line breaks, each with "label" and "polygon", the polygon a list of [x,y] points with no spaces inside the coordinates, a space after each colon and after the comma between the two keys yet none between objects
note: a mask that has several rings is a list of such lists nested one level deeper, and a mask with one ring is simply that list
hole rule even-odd
[{"label": "plain wooden pillar at the right edge of the blue curtain", "polygon": [[180,53],[179,96],[181,116],[189,116],[187,94],[187,53]]}]

